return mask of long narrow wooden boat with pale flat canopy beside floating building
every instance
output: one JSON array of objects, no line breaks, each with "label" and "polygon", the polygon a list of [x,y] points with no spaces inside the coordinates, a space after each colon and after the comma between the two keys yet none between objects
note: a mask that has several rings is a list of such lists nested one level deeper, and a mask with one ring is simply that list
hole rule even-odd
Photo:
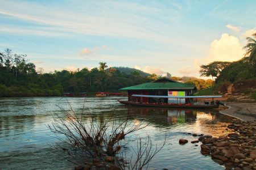
[{"label": "long narrow wooden boat with pale flat canopy beside floating building", "polygon": [[[153,96],[153,95],[133,95],[133,97],[155,97],[155,98],[175,98],[175,99],[182,99],[182,98],[195,98],[196,100],[198,98],[211,98],[212,100],[214,98],[220,98],[222,96]],[[121,104],[126,105],[137,105],[137,106],[143,106],[143,107],[162,107],[162,108],[205,108],[205,109],[213,109],[218,108],[220,103],[212,102],[208,104],[199,104],[196,101],[196,104],[187,103],[187,104],[171,104],[171,103],[142,103],[137,101],[127,101],[127,100],[118,100]],[[214,103],[214,104],[213,104]]]}]

